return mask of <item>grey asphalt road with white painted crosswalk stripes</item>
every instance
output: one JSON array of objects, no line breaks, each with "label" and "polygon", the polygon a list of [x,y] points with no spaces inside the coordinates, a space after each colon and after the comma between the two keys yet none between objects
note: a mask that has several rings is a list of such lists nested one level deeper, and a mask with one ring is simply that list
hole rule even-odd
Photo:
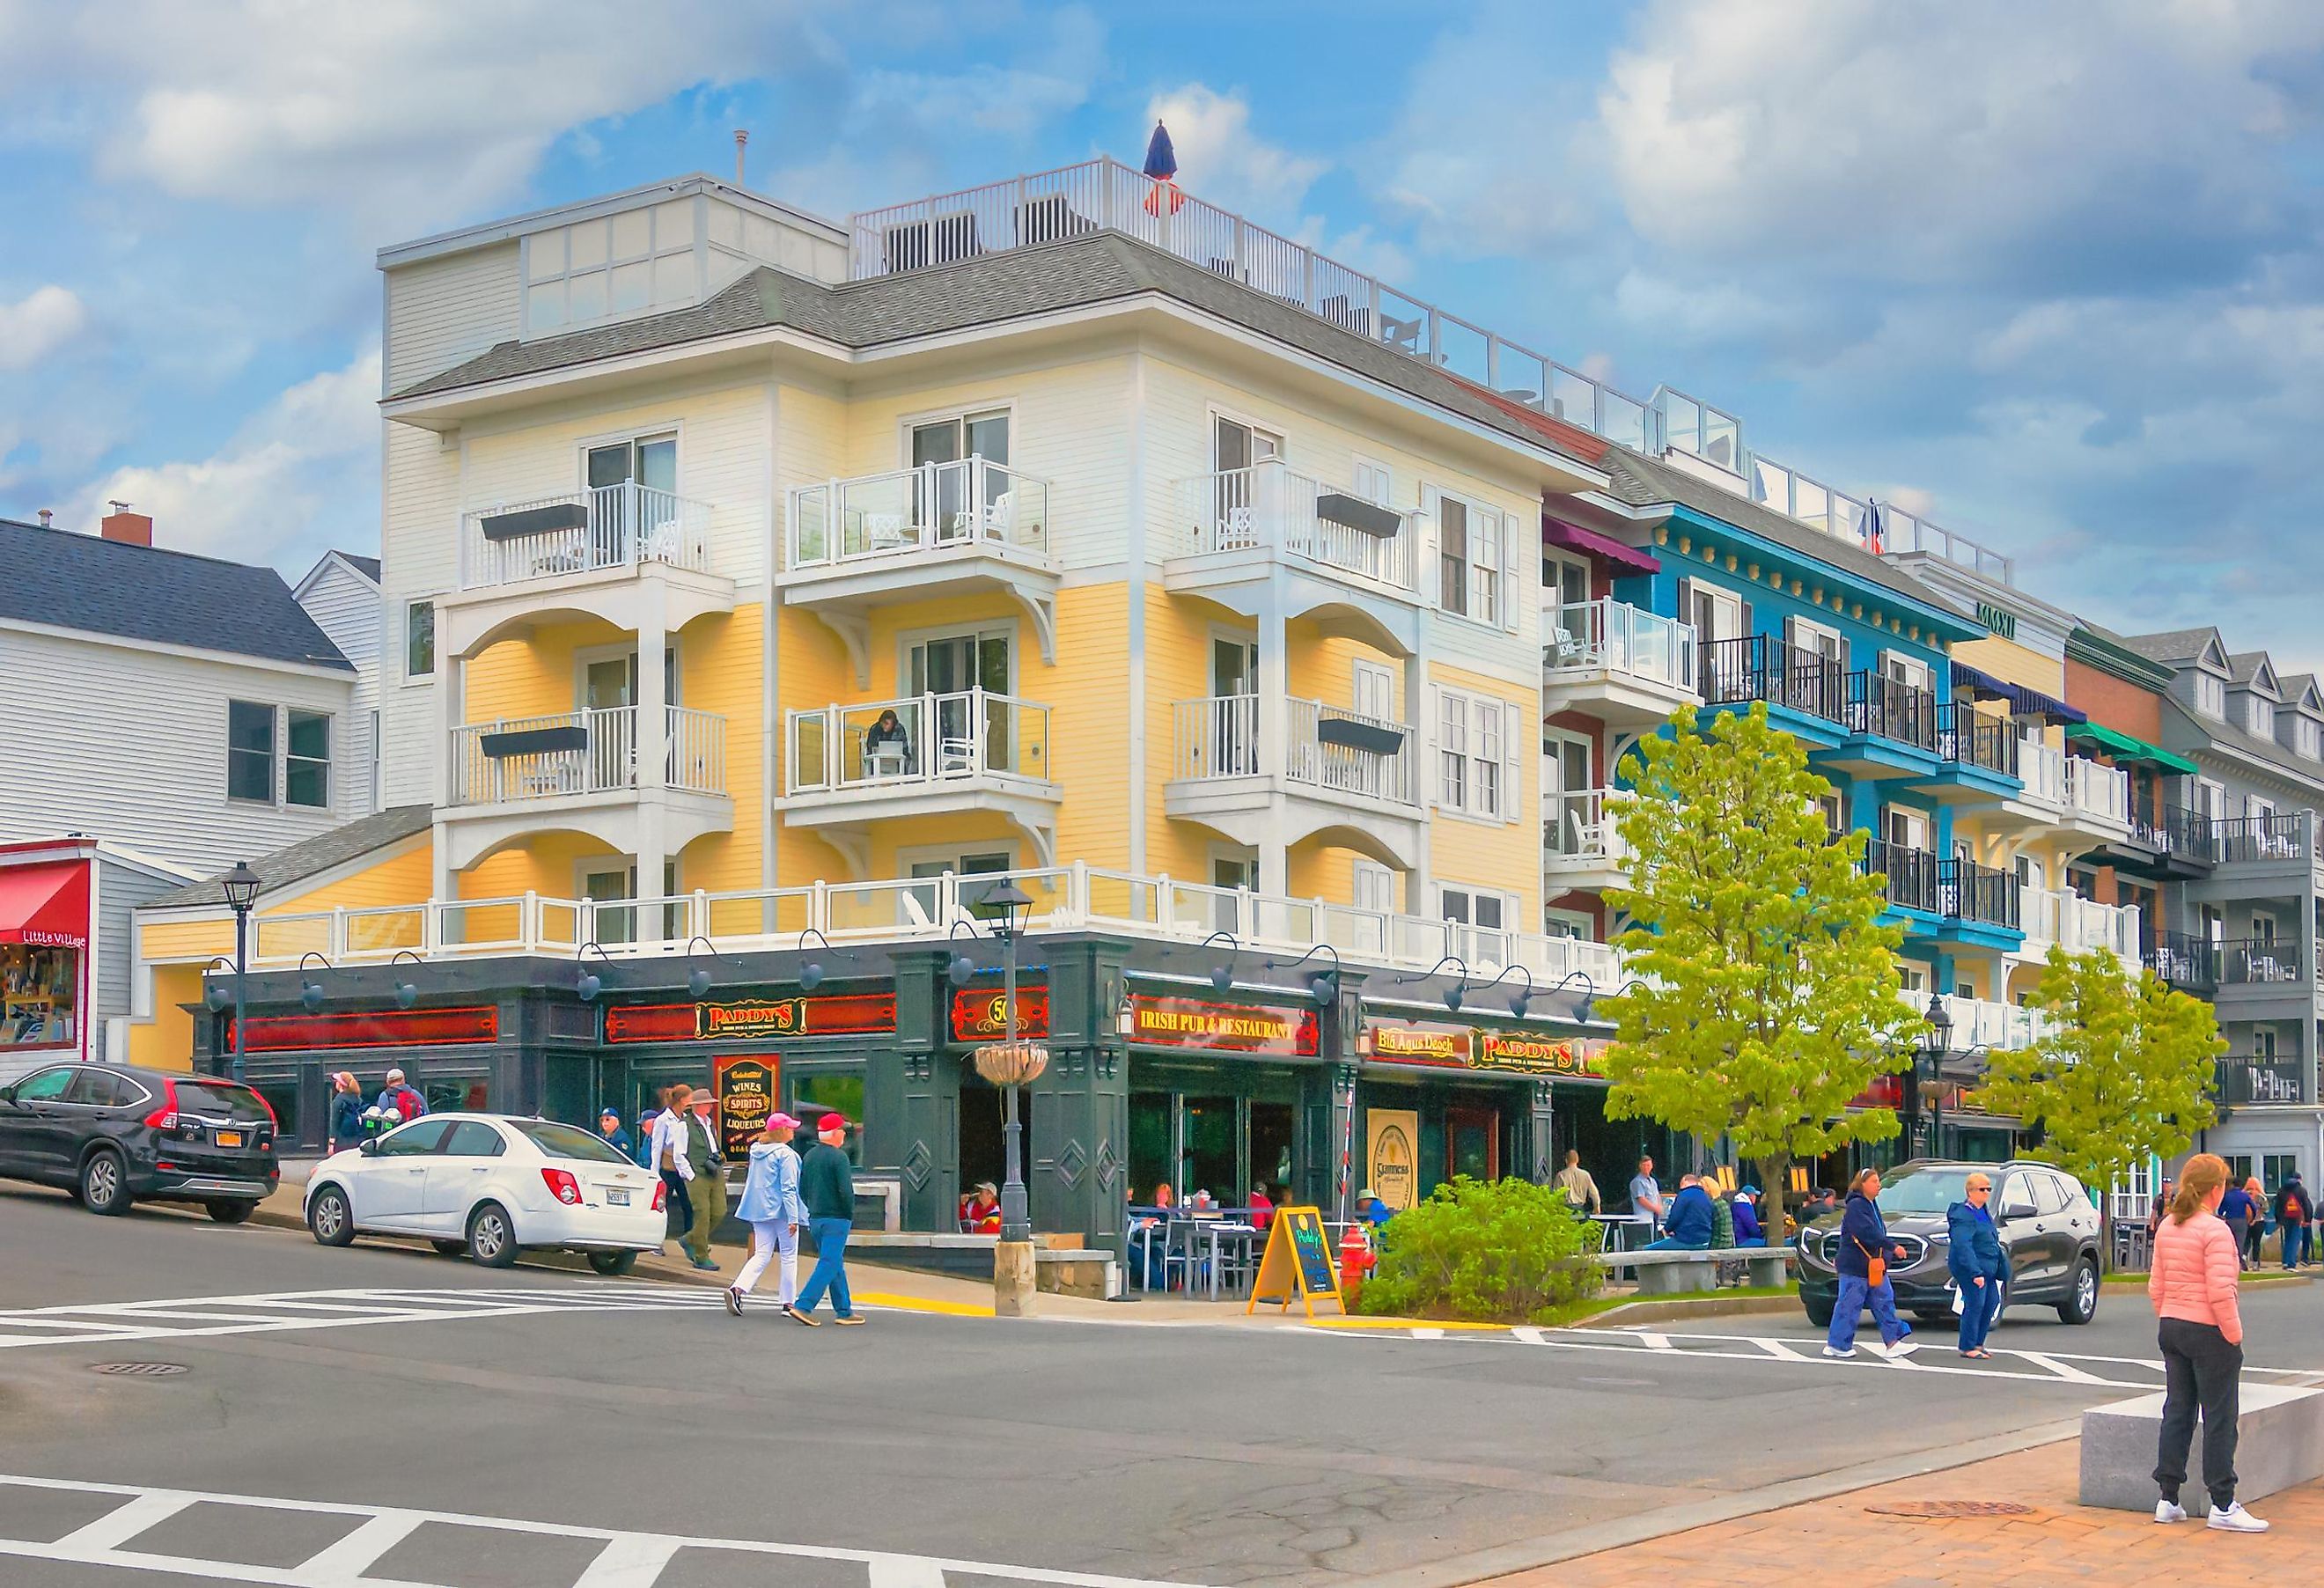
[{"label": "grey asphalt road with white painted crosswalk stripes", "polygon": [[[1799,1316],[802,1330],[706,1290],[19,1188],[0,1253],[0,1474],[46,1483],[0,1481],[0,1588],[1450,1583],[2157,1381],[2117,1290],[2089,1328],[2006,1318],[1968,1369],[1934,1337],[1915,1367],[1824,1362]],[[2324,1290],[2247,1316],[2252,1362],[2324,1372]],[[123,1360],[184,1372],[88,1372]]]}]

